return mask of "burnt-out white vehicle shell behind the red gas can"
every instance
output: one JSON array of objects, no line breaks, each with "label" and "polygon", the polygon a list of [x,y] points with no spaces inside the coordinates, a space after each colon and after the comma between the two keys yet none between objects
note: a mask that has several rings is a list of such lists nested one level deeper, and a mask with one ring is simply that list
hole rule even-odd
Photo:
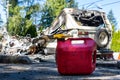
[{"label": "burnt-out white vehicle shell behind the red gas can", "polygon": [[[97,43],[97,55],[99,57],[107,58],[113,53],[110,50],[112,26],[104,12],[66,8],[53,21],[51,27],[45,30],[44,34],[90,37]],[[49,49],[49,46],[46,48]]]}]

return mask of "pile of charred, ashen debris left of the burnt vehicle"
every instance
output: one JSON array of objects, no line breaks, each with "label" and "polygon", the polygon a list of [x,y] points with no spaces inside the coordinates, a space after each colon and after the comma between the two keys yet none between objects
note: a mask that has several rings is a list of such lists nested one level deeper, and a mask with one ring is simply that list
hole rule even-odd
[{"label": "pile of charred, ashen debris left of the burnt vehicle", "polygon": [[[40,54],[40,56],[42,56],[45,54],[43,50],[45,39],[39,40],[38,37],[31,38],[30,35],[27,35],[26,37],[10,36],[8,35],[5,27],[0,28],[0,32],[0,62],[16,63],[18,61],[21,61],[17,60],[21,56],[25,59],[25,57],[29,58],[29,55]],[[11,61],[11,59],[13,61]],[[28,60],[28,62],[30,61]]]}]

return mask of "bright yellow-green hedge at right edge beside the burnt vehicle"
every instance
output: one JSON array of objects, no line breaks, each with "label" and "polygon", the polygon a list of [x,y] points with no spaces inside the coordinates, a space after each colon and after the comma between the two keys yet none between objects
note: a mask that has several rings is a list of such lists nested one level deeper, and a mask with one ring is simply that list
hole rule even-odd
[{"label": "bright yellow-green hedge at right edge beside the burnt vehicle", "polygon": [[120,52],[120,31],[113,33],[111,49]]}]

